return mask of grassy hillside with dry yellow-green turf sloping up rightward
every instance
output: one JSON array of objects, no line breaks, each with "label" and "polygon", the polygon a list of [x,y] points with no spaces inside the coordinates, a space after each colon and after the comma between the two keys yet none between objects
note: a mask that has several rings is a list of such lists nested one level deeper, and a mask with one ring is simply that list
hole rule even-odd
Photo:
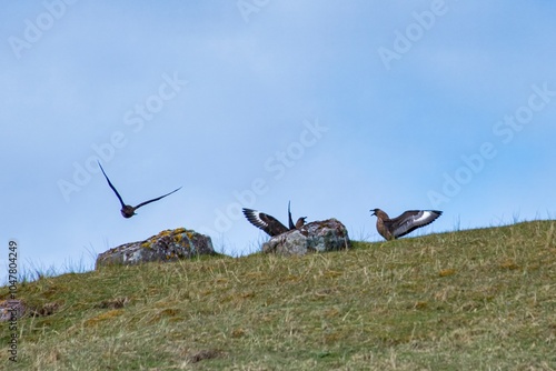
[{"label": "grassy hillside with dry yellow-green turf sloping up rightward", "polygon": [[554,370],[555,224],[43,278],[19,288],[37,311],[19,321],[19,365]]}]

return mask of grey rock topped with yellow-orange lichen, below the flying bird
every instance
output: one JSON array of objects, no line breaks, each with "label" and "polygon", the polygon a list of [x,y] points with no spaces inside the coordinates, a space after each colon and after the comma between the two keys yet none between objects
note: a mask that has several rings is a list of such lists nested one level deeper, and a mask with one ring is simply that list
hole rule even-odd
[{"label": "grey rock topped with yellow-orange lichen, below the flying bird", "polygon": [[105,251],[98,255],[96,268],[176,261],[203,254],[216,254],[210,237],[178,228],[162,231],[145,241],[126,243]]}]

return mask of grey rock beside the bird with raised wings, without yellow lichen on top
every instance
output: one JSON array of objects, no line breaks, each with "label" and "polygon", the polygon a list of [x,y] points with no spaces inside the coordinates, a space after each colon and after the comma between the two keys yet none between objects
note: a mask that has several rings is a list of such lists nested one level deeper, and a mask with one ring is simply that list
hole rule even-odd
[{"label": "grey rock beside the bird with raised wings, without yellow lichen on top", "polygon": [[314,221],[304,227],[272,237],[262,244],[262,252],[304,255],[350,247],[346,227],[336,219]]}]

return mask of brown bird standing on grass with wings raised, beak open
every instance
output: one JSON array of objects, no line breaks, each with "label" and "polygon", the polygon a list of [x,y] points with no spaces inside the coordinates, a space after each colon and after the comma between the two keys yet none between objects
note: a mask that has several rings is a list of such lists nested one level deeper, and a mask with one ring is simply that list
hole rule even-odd
[{"label": "brown bird standing on grass with wings raised, beak open", "polygon": [[380,209],[373,209],[371,215],[377,217],[377,231],[386,240],[394,240],[406,235],[434,222],[443,214],[438,210],[408,210],[401,215],[390,219],[386,212]]}]

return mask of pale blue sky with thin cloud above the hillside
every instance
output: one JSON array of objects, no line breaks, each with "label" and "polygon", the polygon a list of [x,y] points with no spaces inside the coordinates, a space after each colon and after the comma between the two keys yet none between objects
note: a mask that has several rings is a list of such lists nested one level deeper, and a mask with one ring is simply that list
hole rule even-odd
[{"label": "pale blue sky with thin cloud above the hillside", "polygon": [[[444,214],[421,233],[554,215],[556,4],[547,1],[6,3],[0,264],[83,264],[165,229],[244,254],[241,207]],[[177,193],[126,220],[126,202]],[[418,233],[416,233],[418,234]]]}]

